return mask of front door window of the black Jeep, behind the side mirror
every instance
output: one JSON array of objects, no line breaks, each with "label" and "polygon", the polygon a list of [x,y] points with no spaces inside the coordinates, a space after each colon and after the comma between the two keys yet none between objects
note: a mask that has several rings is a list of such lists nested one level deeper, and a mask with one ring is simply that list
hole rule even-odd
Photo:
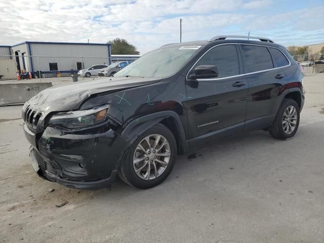
[{"label": "front door window of the black Jeep, behind the side mirror", "polygon": [[[218,46],[207,52],[194,66],[214,65],[218,68],[218,77],[239,74],[239,64],[235,45]],[[193,69],[194,69],[193,68]]]}]

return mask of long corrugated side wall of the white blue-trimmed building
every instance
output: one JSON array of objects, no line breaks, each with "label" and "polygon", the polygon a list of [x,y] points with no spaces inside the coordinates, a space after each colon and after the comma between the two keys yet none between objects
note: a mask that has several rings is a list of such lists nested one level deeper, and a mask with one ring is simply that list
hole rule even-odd
[{"label": "long corrugated side wall of the white blue-trimmed building", "polygon": [[58,71],[77,70],[76,63],[82,62],[82,58],[78,57],[93,57],[83,59],[84,67],[109,63],[107,45],[33,43],[29,45],[32,56],[46,56],[32,58],[33,71],[38,71],[39,69],[43,72],[50,71],[50,63],[57,63]]}]

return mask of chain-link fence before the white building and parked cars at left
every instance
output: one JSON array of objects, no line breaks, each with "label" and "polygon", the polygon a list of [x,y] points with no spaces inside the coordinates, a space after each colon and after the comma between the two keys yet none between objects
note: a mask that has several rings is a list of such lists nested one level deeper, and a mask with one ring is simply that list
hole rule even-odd
[{"label": "chain-link fence before the white building and parked cars at left", "polygon": [[59,81],[68,80],[73,73],[84,80],[98,77],[109,63],[115,64],[118,71],[137,58],[0,55],[0,80],[57,78]]}]

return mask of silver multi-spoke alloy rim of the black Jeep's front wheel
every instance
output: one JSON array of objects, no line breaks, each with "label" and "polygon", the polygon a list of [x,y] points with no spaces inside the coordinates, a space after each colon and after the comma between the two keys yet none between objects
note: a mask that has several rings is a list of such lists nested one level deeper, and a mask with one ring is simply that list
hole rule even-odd
[{"label": "silver multi-spoke alloy rim of the black Jeep's front wheel", "polygon": [[141,179],[155,179],[165,172],[170,156],[170,144],[165,137],[159,134],[148,135],[135,149],[134,171]]}]

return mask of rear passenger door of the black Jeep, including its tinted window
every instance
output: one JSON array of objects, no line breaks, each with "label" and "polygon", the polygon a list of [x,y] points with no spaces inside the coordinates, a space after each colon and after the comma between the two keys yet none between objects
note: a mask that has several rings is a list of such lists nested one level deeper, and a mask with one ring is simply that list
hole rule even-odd
[{"label": "rear passenger door of the black Jeep, including its tinted window", "polygon": [[[249,82],[245,130],[270,125],[276,113],[280,89],[287,84],[285,73],[272,60],[270,48],[241,44],[245,76]],[[278,49],[276,49],[278,50]]]}]

